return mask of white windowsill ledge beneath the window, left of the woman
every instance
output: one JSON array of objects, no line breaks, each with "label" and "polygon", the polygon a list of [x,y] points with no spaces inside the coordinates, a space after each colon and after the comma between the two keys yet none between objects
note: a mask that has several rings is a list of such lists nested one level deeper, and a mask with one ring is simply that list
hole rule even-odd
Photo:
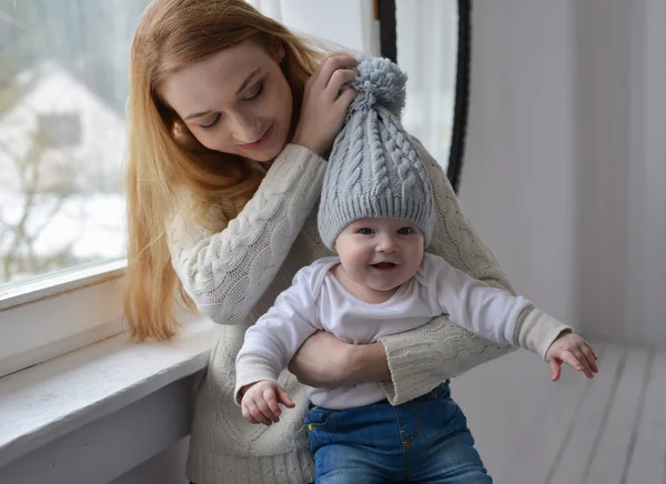
[{"label": "white windowsill ledge beneath the window, left of the woman", "polygon": [[168,343],[118,334],[0,379],[0,467],[204,369],[213,323],[179,316]]}]

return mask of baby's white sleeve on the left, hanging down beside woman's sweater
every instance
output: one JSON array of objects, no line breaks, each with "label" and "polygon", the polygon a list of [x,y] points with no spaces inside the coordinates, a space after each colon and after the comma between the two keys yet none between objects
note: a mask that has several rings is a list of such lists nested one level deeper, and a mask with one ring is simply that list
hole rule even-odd
[{"label": "baby's white sleeve on the left, hanging down beside woman's sweater", "polygon": [[292,286],[282,292],[275,304],[245,332],[245,341],[236,356],[236,403],[240,403],[239,391],[243,386],[263,380],[278,381],[303,342],[322,329],[310,293],[312,275],[312,266],[301,269]]}]

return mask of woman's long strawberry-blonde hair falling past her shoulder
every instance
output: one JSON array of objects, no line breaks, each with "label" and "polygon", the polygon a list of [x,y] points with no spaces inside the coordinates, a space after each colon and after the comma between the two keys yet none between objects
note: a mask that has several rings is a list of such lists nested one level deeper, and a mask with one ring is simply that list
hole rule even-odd
[{"label": "woman's long strawberry-blonde hair falling past her shoulder", "polygon": [[215,152],[192,135],[158,94],[167,75],[244,40],[269,51],[284,49],[282,70],[294,99],[292,127],[297,122],[305,81],[321,52],[264,17],[244,0],[154,0],[134,33],[130,67],[128,201],[128,274],[124,315],[133,339],[169,340],[178,330],[174,302],[193,301],[171,265],[167,214],[185,189],[193,216],[210,230],[206,209],[233,219],[252,198],[262,175],[248,160]]}]

